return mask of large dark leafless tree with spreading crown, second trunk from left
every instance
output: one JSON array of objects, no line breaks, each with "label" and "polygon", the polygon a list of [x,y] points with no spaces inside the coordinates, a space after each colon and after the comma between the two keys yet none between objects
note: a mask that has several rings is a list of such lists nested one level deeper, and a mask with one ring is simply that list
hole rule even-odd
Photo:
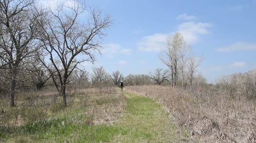
[{"label": "large dark leafless tree with spreading crown, second trunk from left", "polygon": [[[55,10],[50,10],[48,21],[40,21],[42,47],[54,68],[50,69],[46,60],[42,59],[42,62],[51,73],[56,71],[53,82],[65,105],[68,77],[79,63],[94,62],[94,54],[100,53],[100,43],[106,35],[104,30],[111,24],[108,15],[102,16],[96,9],[87,9],[81,1],[72,2],[72,5],[58,4]],[[83,17],[85,12],[89,13],[87,19]],[[83,18],[87,21],[83,22]]]}]

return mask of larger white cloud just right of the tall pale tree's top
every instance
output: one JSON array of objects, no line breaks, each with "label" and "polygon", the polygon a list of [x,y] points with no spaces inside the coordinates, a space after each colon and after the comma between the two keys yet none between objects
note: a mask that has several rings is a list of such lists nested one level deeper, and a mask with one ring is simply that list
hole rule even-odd
[{"label": "larger white cloud just right of the tall pale tree's top", "polygon": [[208,34],[207,28],[212,27],[212,23],[202,22],[184,22],[179,24],[178,32],[182,33],[185,41],[195,43],[200,40],[200,35]]}]

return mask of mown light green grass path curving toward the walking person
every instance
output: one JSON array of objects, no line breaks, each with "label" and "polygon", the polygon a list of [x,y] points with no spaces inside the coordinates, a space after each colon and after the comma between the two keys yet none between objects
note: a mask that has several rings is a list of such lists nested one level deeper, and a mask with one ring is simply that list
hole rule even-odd
[{"label": "mown light green grass path curving toward the walking person", "polygon": [[113,142],[177,142],[176,127],[161,105],[148,97],[125,94],[127,110],[118,122],[124,131]]}]

